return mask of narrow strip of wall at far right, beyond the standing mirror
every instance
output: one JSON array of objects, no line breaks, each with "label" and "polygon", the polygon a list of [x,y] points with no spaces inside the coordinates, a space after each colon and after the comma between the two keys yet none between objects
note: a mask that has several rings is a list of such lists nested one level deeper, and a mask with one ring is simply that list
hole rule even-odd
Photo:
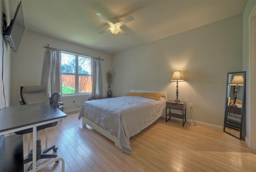
[{"label": "narrow strip of wall at far right, beyond the standing mirror", "polygon": [[[252,150],[256,150],[256,112],[255,112],[255,80],[252,73],[255,71],[255,56],[250,57],[250,17],[256,10],[256,1],[248,1],[243,12],[243,70],[246,71],[246,114],[245,114],[245,140]],[[255,32],[255,31],[254,31]],[[254,62],[253,63],[251,63]],[[254,90],[253,90],[254,89]],[[254,93],[254,94],[253,94]]]}]

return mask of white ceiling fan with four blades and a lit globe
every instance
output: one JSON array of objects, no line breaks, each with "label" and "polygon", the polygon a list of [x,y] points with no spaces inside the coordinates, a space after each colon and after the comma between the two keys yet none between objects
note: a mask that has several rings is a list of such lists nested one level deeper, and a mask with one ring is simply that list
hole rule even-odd
[{"label": "white ceiling fan with four blades and a lit globe", "polygon": [[106,18],[105,18],[102,14],[100,14],[99,12],[98,12],[96,15],[99,16],[100,18],[102,18],[103,20],[105,20],[105,21],[109,24],[109,26],[110,26],[108,29],[103,30],[102,32],[100,32],[100,34],[103,34],[103,33],[105,33],[106,31],[110,30],[110,32],[111,32],[112,34],[118,34],[118,33],[120,33],[120,34],[123,34],[124,36],[126,36],[127,33],[124,32],[124,30],[122,30],[122,29],[120,28],[120,26],[122,26],[122,25],[124,25],[124,24],[126,24],[126,23],[128,23],[128,22],[130,22],[130,21],[132,21],[132,20],[134,20],[133,16],[129,16],[129,17],[127,17],[126,19],[124,19],[124,20],[122,20],[122,21],[120,21],[120,22],[117,22],[117,20],[116,20],[115,18],[113,18],[113,19],[111,20],[111,22],[110,22],[108,19],[106,19]]}]

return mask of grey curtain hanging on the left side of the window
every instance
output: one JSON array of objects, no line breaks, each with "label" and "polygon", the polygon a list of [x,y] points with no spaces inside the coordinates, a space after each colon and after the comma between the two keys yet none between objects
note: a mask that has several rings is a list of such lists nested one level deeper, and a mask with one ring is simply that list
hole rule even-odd
[{"label": "grey curtain hanging on the left side of the window", "polygon": [[48,48],[45,52],[41,85],[46,86],[48,97],[54,92],[61,93],[61,50]]}]

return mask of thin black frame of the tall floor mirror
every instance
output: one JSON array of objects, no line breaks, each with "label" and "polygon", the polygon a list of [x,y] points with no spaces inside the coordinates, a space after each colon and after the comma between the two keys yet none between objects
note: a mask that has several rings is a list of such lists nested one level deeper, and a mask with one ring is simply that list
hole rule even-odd
[{"label": "thin black frame of the tall floor mirror", "polygon": [[[226,122],[227,122],[227,116],[228,116],[228,111],[227,111],[227,107],[228,108],[230,108],[231,106],[229,106],[228,105],[228,97],[229,97],[229,95],[228,95],[228,88],[229,88],[229,82],[230,82],[230,80],[229,80],[229,76],[230,76],[230,74],[233,74],[233,76],[235,75],[235,74],[242,74],[243,75],[243,77],[244,77],[244,83],[243,83],[243,94],[242,94],[242,108],[241,108],[241,111],[237,108],[236,110],[238,110],[238,111],[240,111],[240,113],[241,113],[241,122],[240,122],[240,130],[238,130],[238,129],[236,129],[236,127],[234,127],[234,128],[232,128],[232,127],[230,127],[230,126],[226,126]],[[232,78],[231,78],[232,79]],[[230,73],[228,73],[228,75],[227,75],[227,84],[226,84],[226,104],[225,104],[225,118],[224,118],[224,132],[226,132],[226,133],[228,133],[228,134],[230,134],[231,136],[234,136],[235,138],[238,138],[238,139],[240,139],[240,140],[242,140],[242,127],[243,127],[243,118],[244,118],[244,100],[245,100],[245,88],[246,88],[246,71],[242,71],[242,72],[230,72]],[[232,108],[236,108],[236,107],[232,107]],[[234,109],[235,110],[235,109]],[[235,110],[235,111],[236,111]],[[234,130],[237,130],[237,131],[240,131],[240,134],[239,134],[239,137],[238,136],[236,136],[236,135],[234,135],[234,134],[232,134],[232,133],[230,133],[230,132],[228,132],[228,131],[226,131],[226,128],[232,128],[232,129],[234,129]]]}]

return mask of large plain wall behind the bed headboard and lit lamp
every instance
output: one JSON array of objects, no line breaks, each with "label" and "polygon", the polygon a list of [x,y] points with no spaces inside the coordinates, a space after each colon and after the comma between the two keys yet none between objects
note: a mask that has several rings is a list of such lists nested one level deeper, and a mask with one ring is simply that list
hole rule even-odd
[{"label": "large plain wall behind the bed headboard and lit lamp", "polygon": [[187,108],[194,104],[193,119],[223,129],[227,73],[242,71],[242,15],[124,50],[114,54],[112,66],[113,96],[161,90],[169,100],[176,99],[170,77],[181,70],[185,81],[179,82],[179,99]]}]

